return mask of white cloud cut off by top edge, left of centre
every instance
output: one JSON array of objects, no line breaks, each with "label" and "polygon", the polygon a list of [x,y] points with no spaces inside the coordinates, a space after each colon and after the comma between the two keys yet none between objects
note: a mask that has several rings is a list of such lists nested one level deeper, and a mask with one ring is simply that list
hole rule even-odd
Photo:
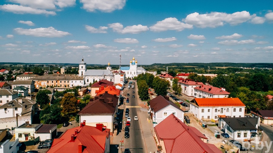
[{"label": "white cloud cut off by top edge, left of centre", "polygon": [[83,3],[83,8],[90,12],[95,10],[112,12],[122,9],[126,0],[80,0],[80,2]]}]

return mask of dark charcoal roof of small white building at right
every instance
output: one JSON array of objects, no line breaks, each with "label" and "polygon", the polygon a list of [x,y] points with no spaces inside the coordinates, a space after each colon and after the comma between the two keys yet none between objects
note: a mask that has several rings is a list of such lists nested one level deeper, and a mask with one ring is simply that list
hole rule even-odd
[{"label": "dark charcoal roof of small white building at right", "polygon": [[257,129],[258,117],[235,117],[235,118],[221,118],[233,130],[254,130]]}]

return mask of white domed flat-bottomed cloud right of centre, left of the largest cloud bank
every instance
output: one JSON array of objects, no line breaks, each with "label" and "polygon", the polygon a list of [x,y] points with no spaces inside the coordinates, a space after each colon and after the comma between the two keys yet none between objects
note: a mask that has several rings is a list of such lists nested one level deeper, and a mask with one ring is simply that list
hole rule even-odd
[{"label": "white domed flat-bottomed cloud right of centre, left of the largest cloud bank", "polygon": [[177,18],[165,18],[162,21],[157,21],[156,24],[149,27],[151,31],[167,31],[176,30],[182,31],[184,29],[192,29],[193,25],[185,24],[177,20]]}]

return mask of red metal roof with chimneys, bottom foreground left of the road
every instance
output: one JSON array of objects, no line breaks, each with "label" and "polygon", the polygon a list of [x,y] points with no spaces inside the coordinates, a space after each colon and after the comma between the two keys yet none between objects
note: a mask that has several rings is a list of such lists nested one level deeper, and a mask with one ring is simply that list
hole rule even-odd
[{"label": "red metal roof with chimneys, bottom foreground left of the road", "polygon": [[[75,134],[75,130],[78,133]],[[74,140],[71,140],[71,136],[74,135]],[[47,153],[78,153],[79,145],[83,145],[83,153],[104,153],[106,138],[110,136],[110,129],[103,129],[100,131],[93,126],[83,126],[68,129],[61,138],[54,139],[52,147]]]}]

